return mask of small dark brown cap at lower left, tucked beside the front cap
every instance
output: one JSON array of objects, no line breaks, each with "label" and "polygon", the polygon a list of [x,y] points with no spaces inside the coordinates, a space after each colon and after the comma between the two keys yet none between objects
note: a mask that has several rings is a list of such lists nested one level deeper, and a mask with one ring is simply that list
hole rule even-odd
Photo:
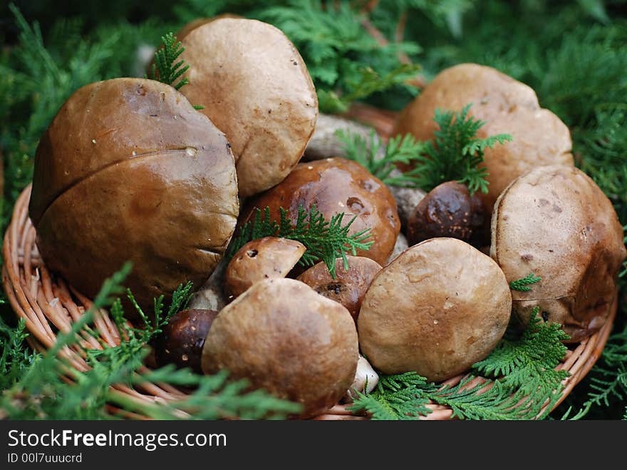
[{"label": "small dark brown cap at lower left, tucked beside the front cap", "polygon": [[215,310],[202,309],[187,309],[172,315],[155,342],[157,364],[190,367],[202,374],[202,347],[217,315]]}]

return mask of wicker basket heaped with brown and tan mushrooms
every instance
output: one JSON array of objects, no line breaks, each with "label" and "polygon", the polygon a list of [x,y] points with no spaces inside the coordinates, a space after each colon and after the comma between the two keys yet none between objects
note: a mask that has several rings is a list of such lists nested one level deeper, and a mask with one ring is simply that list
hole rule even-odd
[{"label": "wicker basket heaped with brown and tan mushrooms", "polygon": [[[623,228],[574,165],[569,129],[531,88],[462,63],[398,114],[326,116],[274,26],[222,16],[177,36],[185,86],[90,83],[41,136],[3,247],[4,287],[33,347],[53,347],[130,261],[125,285],[146,312],[194,286],[150,344],[147,369],[227,369],[301,404],[294,418],[369,419],[353,400],[394,374],[474,387],[473,364],[506,330],[537,322],[558,325],[566,352],[555,369],[568,372],[538,415],[589,371],[616,313]],[[165,74],[161,59],[157,50],[153,78]],[[444,164],[466,165],[484,185],[394,184],[445,158],[442,122],[464,120],[477,145]],[[351,158],[342,133],[362,136],[371,158]],[[397,136],[426,150],[392,161]],[[104,310],[92,329],[81,347],[124,341]],[[89,367],[79,347],[60,354]],[[174,405],[187,393],[156,383],[118,391]],[[437,400],[424,409],[423,419],[455,417]]]}]

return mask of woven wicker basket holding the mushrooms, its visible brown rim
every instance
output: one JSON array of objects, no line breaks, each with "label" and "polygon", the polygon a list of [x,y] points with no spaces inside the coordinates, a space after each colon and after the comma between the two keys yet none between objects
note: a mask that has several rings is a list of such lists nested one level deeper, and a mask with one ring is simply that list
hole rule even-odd
[{"label": "woven wicker basket holding the mushrooms, its visible brown rim", "polygon": [[[385,138],[390,132],[393,116],[377,111],[370,108],[353,108],[348,116],[371,124]],[[56,342],[58,332],[67,332],[71,329],[72,323],[76,322],[83,315],[83,312],[91,307],[92,302],[73,289],[71,285],[68,285],[61,277],[54,276],[43,264],[35,243],[35,228],[28,218],[30,194],[31,187],[28,186],[16,202],[11,223],[4,235],[2,282],[6,296],[16,315],[26,320],[26,328],[31,333],[28,336],[29,344],[34,349],[45,352]],[[616,307],[615,300],[611,306],[608,321],[600,331],[579,344],[569,345],[566,357],[557,369],[570,372],[570,376],[564,380],[564,389],[554,407],[566,398],[598,359],[611,331]],[[60,352],[79,371],[84,372],[89,369],[88,364],[81,356],[81,347],[101,349],[103,344],[115,346],[120,342],[118,330],[108,316],[108,312],[104,310],[98,312],[95,315],[92,328],[93,331],[84,331],[81,334],[80,347],[66,347]],[[100,342],[95,338],[94,333],[100,338]],[[146,371],[147,367],[139,372]],[[461,374],[447,380],[445,384],[454,385],[464,378],[465,375]],[[129,399],[143,403],[170,402],[174,407],[177,400],[185,397],[185,392],[180,389],[167,384],[150,382],[135,388],[125,384],[117,384],[113,386],[112,392],[125,394]],[[450,419],[452,416],[452,409],[448,407],[438,404],[427,406],[432,410],[432,413],[424,419]],[[113,414],[122,414],[125,417],[142,418],[137,414],[113,407],[110,407],[108,411]],[[348,411],[346,405],[338,404],[315,419],[347,420],[368,419],[368,417],[355,416]]]}]

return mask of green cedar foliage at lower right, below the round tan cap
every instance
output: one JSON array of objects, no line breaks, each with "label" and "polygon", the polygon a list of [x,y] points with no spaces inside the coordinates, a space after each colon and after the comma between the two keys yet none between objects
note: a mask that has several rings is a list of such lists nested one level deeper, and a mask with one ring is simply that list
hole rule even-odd
[{"label": "green cedar foliage at lower right, below the round tan cap", "polygon": [[460,419],[541,419],[557,402],[561,381],[569,376],[555,367],[566,354],[568,339],[560,325],[542,322],[534,309],[519,337],[507,332],[489,356],[472,366],[475,375],[455,386],[427,382],[416,372],[382,376],[370,394],[357,393],[351,405],[373,419],[420,419],[430,402],[452,409]]}]

